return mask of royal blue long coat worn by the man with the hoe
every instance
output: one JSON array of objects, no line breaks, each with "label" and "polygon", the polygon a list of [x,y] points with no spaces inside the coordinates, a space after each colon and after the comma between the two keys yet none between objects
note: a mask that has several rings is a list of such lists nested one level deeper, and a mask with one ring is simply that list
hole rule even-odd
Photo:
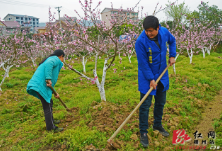
[{"label": "royal blue long coat worn by the man with the hoe", "polygon": [[[166,28],[161,26],[158,32],[158,42],[160,48],[154,41],[147,37],[145,31],[143,31],[136,40],[135,49],[138,61],[139,91],[143,94],[146,94],[150,89],[150,81],[156,81],[159,75],[167,67],[166,43],[169,44],[169,57],[176,56],[176,40]],[[164,86],[163,91],[169,89],[168,71],[163,75],[160,82]],[[156,90],[153,90],[150,95],[156,95]]]}]

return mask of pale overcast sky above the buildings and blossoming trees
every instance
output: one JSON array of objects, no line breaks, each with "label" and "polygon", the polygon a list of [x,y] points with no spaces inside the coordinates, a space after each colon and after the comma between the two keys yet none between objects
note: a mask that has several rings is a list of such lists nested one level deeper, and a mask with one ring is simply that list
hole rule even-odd
[{"label": "pale overcast sky above the buildings and blossoming trees", "polygon": [[[82,0],[84,1],[84,0]],[[96,6],[99,1],[102,1],[99,9],[102,11],[105,7],[111,7],[111,2],[114,8],[123,9],[132,8],[139,0],[92,0],[93,5]],[[217,5],[219,9],[222,9],[222,0],[203,0],[204,2],[209,1],[209,5]],[[159,2],[159,7],[165,7],[168,0],[141,0],[138,6],[143,6],[143,13],[147,12],[151,15],[155,9],[156,4]],[[171,0],[173,2],[173,0]],[[197,10],[197,6],[201,3],[201,0],[178,0],[177,3],[180,4],[185,2],[191,11]],[[77,16],[74,12],[76,9],[80,14],[83,14],[79,0],[0,0],[0,18],[3,18],[7,14],[19,14],[19,15],[29,15],[39,18],[40,22],[47,22],[48,10],[51,6],[51,11],[56,12],[56,19],[58,19],[58,13],[55,9],[56,6],[62,6],[61,17],[64,14],[68,16]],[[138,10],[138,9],[136,9]],[[156,15],[161,21],[166,19],[165,13],[160,12]]]}]

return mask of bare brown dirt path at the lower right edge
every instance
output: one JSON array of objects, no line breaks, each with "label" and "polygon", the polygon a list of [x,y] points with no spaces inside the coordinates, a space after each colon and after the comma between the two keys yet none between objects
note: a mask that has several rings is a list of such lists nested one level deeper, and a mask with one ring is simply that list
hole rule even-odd
[{"label": "bare brown dirt path at the lower right edge", "polygon": [[[197,104],[201,104],[201,102],[197,102]],[[201,104],[202,105],[202,104]],[[205,111],[202,113],[203,119],[200,121],[200,123],[193,129],[193,133],[198,131],[198,134],[202,134],[202,139],[196,139],[199,141],[199,146],[206,146],[202,145],[202,140],[207,140],[207,144],[209,144],[208,141],[208,133],[209,131],[214,131],[213,127],[213,119],[220,118],[221,114],[221,108],[222,108],[222,90],[219,92],[219,95],[215,97],[215,101],[210,102],[207,106],[205,106]],[[194,145],[194,134],[190,134],[191,141],[187,143],[188,146]],[[188,151],[188,150],[185,150]],[[203,149],[200,149],[200,151],[203,151]]]}]

